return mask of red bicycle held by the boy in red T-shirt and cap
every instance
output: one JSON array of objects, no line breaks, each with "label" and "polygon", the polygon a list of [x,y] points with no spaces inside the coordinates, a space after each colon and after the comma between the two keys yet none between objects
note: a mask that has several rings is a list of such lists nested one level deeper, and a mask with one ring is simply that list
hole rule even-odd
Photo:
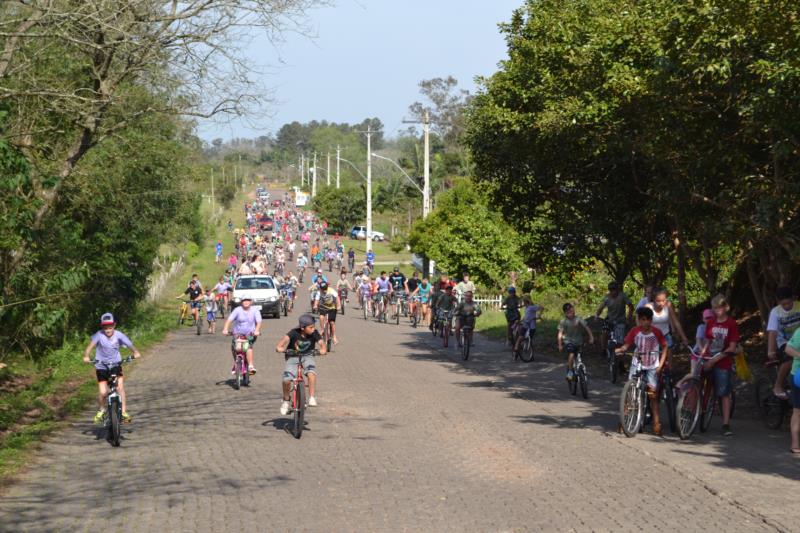
[{"label": "red bicycle held by the boy in red T-shirt and cap", "polygon": [[[700,423],[700,431],[705,432],[711,426],[711,419],[717,405],[722,402],[717,401],[717,391],[714,387],[714,377],[711,372],[703,369],[704,357],[689,347],[691,358],[697,361],[694,373],[681,386],[678,392],[678,404],[676,407],[678,417],[678,435],[681,440],[686,440],[692,436]],[[731,418],[733,418],[734,407],[736,406],[736,394],[731,388]]]}]

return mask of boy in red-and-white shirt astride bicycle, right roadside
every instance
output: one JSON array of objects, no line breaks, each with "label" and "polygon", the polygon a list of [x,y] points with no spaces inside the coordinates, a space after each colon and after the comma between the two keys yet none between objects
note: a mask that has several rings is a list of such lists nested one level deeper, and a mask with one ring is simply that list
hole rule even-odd
[{"label": "boy in red-and-white shirt astride bicycle, right roadside", "polygon": [[[661,436],[661,417],[658,410],[659,377],[669,356],[667,338],[661,330],[653,327],[653,310],[640,307],[636,310],[639,325],[625,336],[622,346],[614,350],[623,353],[631,346],[635,347],[634,357],[639,360],[644,379],[647,383],[647,397],[650,399],[650,412],[653,414],[653,434]],[[631,364],[628,379],[636,372],[636,365]]]}]

